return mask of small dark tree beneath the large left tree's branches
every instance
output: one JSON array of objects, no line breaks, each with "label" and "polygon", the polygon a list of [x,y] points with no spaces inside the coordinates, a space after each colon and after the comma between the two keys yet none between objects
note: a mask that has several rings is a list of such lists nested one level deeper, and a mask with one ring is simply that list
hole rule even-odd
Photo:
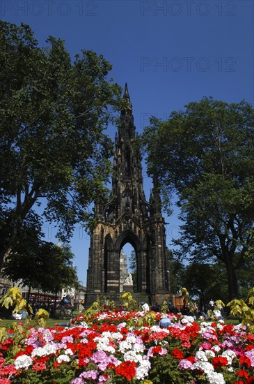
[{"label": "small dark tree beneath the large left tree's branches", "polygon": [[[78,286],[69,246],[42,241],[34,218],[28,214],[12,251],[3,263],[2,275],[22,286],[57,293],[62,288]],[[28,218],[31,219],[28,221]]]}]

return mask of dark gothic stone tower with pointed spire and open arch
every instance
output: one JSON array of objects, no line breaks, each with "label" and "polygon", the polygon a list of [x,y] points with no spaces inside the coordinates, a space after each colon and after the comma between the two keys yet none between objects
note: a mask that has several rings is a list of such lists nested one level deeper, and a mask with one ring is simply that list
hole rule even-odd
[{"label": "dark gothic stone tower with pointed spire and open arch", "polygon": [[90,238],[88,306],[97,295],[106,295],[118,302],[121,294],[120,251],[126,243],[132,244],[136,252],[137,292],[140,297],[153,303],[167,300],[169,296],[165,222],[155,186],[149,202],[145,200],[141,157],[134,147],[136,128],[127,84],[123,98],[126,107],[121,111],[115,140],[111,200],[105,205],[95,203],[97,226]]}]

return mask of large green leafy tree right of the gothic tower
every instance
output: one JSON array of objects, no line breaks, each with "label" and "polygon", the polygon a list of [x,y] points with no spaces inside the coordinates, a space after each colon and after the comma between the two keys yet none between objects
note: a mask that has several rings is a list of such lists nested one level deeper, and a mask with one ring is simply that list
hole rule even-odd
[{"label": "large green leafy tree right of the gothic tower", "polygon": [[203,98],[166,122],[153,118],[143,136],[150,175],[168,200],[173,191],[179,198],[176,243],[198,263],[224,263],[230,300],[238,296],[237,269],[253,258],[253,112],[245,101]]}]

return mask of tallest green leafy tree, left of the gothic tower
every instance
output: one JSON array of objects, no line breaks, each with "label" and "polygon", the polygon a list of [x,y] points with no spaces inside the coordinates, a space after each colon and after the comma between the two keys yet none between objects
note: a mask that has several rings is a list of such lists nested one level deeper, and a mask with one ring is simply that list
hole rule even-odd
[{"label": "tallest green leafy tree, left of the gothic tower", "polygon": [[30,27],[0,22],[0,269],[26,215],[43,215],[68,239],[87,223],[104,193],[112,142],[104,133],[118,108],[111,65],[82,50],[72,60],[63,40],[39,47]]}]

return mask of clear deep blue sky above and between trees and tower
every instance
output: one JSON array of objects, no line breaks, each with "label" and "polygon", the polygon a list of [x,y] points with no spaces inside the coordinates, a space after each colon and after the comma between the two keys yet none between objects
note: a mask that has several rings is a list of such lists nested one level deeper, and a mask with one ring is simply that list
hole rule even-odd
[{"label": "clear deep blue sky above and between trees and tower", "polygon": [[[113,65],[111,77],[122,87],[128,83],[138,133],[150,115],[166,119],[203,96],[253,104],[251,0],[2,0],[0,7],[2,20],[29,24],[40,45],[51,35],[65,40],[72,57],[81,49],[103,54]],[[108,128],[111,137],[115,132]],[[145,170],[143,175],[148,198]],[[170,246],[177,213],[166,221]],[[88,235],[77,229],[71,246],[84,283],[89,245]]]}]

